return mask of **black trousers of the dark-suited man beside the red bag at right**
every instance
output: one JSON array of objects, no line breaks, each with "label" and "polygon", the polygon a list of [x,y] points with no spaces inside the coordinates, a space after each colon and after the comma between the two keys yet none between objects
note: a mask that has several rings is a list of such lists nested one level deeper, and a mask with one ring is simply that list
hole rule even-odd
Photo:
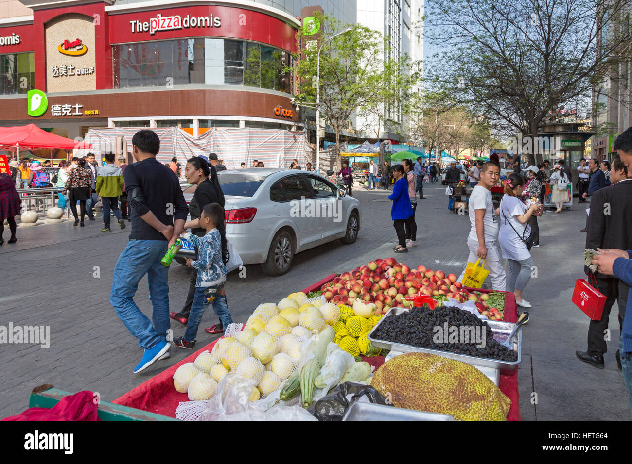
[{"label": "black trousers of the dark-suited man beside the red bag at right", "polygon": [[598,355],[608,351],[604,340],[604,331],[608,328],[610,311],[614,302],[619,306],[619,335],[623,327],[623,319],[626,317],[626,303],[628,302],[629,287],[614,277],[597,277],[599,292],[605,295],[604,312],[599,321],[590,321],[588,326],[588,354]]}]

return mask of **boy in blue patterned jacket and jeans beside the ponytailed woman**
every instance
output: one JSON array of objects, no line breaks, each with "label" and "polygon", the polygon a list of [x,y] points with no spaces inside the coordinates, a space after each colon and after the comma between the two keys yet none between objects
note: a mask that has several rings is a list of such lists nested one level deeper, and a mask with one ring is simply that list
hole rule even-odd
[{"label": "boy in blue patterned jacket and jeans beside the ponytailed woman", "polygon": [[185,239],[198,248],[198,258],[195,261],[186,260],[187,266],[198,270],[198,277],[185,335],[173,340],[173,344],[178,348],[186,350],[195,348],[195,336],[202,314],[211,303],[224,330],[233,322],[224,293],[226,266],[222,260],[221,236],[217,230],[217,225],[223,220],[223,208],[217,203],[209,203],[202,208],[200,216],[200,227],[206,230],[204,237],[190,233],[183,234]]}]

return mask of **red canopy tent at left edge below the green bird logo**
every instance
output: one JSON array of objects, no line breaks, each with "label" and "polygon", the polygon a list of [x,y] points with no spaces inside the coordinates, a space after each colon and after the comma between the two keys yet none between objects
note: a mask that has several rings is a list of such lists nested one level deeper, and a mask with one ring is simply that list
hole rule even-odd
[{"label": "red canopy tent at left edge below the green bird logo", "polygon": [[78,150],[79,148],[92,148],[92,145],[51,134],[35,124],[0,128],[0,150],[16,152],[18,156],[20,150],[47,149],[51,150],[51,159],[53,157],[65,158],[65,155],[59,152],[53,156],[52,150]]}]

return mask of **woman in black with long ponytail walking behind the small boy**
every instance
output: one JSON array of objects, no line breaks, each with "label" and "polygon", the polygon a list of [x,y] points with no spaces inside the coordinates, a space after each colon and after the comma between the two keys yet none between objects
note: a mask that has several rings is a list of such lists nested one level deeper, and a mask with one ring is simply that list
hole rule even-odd
[{"label": "woman in black with long ponytail walking behind the small boy", "polygon": [[[209,203],[217,203],[224,208],[224,203],[226,203],[224,193],[219,185],[215,167],[207,163],[204,158],[193,157],[188,160],[186,162],[185,177],[191,185],[197,185],[193,198],[191,198],[189,203],[191,220],[185,223],[185,229],[191,229],[191,234],[198,235],[198,237],[204,237],[206,232],[199,224],[199,219],[202,215],[202,208]],[[226,225],[224,223],[218,225],[217,230],[219,230],[219,234],[222,237],[222,255],[224,256],[224,263],[226,263],[226,261],[228,261],[228,254],[226,251]],[[195,250],[195,256],[197,258],[197,249]],[[196,280],[197,269],[191,268],[189,293],[186,297],[185,306],[180,312],[169,313],[171,319],[174,319],[183,325],[186,325],[188,322],[191,304],[193,304],[193,297],[195,296]],[[215,324],[214,326],[205,328],[204,330],[208,333],[223,332],[221,324]]]}]

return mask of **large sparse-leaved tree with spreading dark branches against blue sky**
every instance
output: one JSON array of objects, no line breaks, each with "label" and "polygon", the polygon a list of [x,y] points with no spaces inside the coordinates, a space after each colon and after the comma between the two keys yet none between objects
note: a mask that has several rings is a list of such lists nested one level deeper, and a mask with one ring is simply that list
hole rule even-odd
[{"label": "large sparse-leaved tree with spreading dark branches against blue sky", "polygon": [[[427,37],[444,51],[425,65],[427,78],[507,136],[537,137],[549,110],[561,104],[588,112],[593,88],[627,59],[621,50],[632,40],[631,4],[428,0]],[[618,21],[626,27],[612,26]],[[534,153],[528,157],[534,164]]]}]

